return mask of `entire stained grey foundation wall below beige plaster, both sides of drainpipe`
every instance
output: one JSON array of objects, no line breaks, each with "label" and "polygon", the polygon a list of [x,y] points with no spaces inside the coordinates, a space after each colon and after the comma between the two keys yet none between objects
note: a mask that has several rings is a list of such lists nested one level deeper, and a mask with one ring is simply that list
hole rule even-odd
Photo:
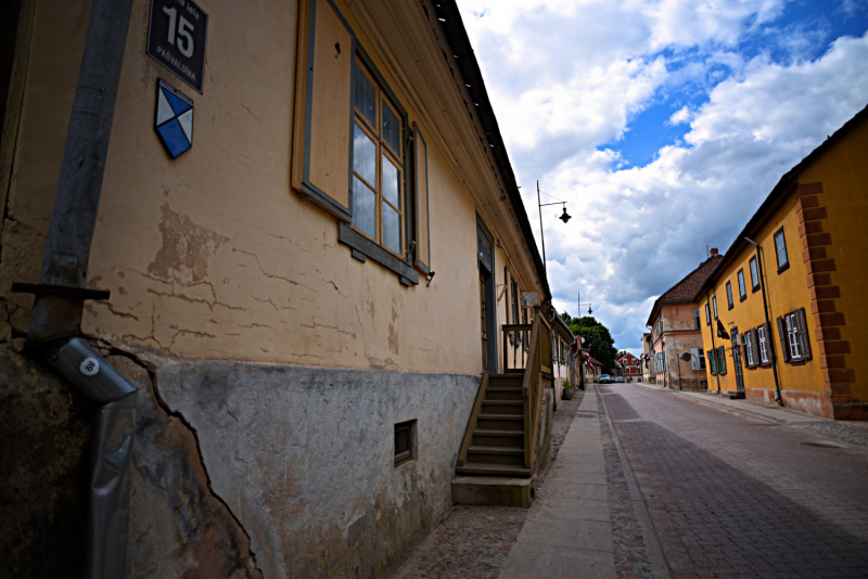
[{"label": "entire stained grey foundation wall below beige plaster, both sides of drainpipe", "polygon": [[[451,504],[480,376],[103,353],[140,388],[129,578],[386,577]],[[4,344],[0,395],[5,568],[78,578],[94,409]]]}]

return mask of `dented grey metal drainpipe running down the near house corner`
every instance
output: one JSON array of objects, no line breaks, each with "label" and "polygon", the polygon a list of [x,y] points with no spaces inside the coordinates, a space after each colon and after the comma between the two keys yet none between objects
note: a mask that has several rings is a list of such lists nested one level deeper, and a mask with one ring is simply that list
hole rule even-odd
[{"label": "dented grey metal drainpipe running down the near house corner", "polygon": [[[93,0],[26,348],[99,404],[91,442],[86,575],[125,576],[136,387],[80,337],[132,0]],[[20,290],[22,291],[22,290]]]}]

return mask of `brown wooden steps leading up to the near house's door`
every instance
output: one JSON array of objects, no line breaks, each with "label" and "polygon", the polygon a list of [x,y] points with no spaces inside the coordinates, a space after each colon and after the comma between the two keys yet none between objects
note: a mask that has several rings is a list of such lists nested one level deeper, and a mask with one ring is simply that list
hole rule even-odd
[{"label": "brown wooden steps leading up to the near house's door", "polygon": [[[471,416],[471,428],[459,453],[456,474],[527,478],[524,415],[527,397],[523,375],[486,374]],[[475,424],[473,422],[475,421]]]}]

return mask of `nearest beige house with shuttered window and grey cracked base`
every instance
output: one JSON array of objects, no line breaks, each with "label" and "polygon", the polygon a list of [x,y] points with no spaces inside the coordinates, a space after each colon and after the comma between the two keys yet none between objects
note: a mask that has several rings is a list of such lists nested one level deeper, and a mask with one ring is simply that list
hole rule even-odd
[{"label": "nearest beige house with shuttered window and grey cracked base", "polygon": [[[502,325],[550,301],[472,47],[451,2],[169,1],[131,2],[111,139],[81,163],[91,4],[17,0],[4,24],[7,568],[77,574],[89,461],[90,407],[30,347],[17,282],[138,387],[128,577],[385,577],[451,504],[481,376],[523,347]],[[157,40],[201,54],[201,92],[146,53],[176,24]],[[88,252],[46,281],[82,164]]]}]

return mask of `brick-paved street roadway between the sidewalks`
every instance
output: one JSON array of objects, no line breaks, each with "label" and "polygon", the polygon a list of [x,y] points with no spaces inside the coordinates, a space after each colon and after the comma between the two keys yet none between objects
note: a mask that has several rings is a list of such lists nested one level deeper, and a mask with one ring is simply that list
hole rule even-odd
[{"label": "brick-paved street roadway between the sidewalks", "polygon": [[795,428],[631,384],[600,391],[674,577],[868,575],[868,452],[848,443],[860,428]]}]

